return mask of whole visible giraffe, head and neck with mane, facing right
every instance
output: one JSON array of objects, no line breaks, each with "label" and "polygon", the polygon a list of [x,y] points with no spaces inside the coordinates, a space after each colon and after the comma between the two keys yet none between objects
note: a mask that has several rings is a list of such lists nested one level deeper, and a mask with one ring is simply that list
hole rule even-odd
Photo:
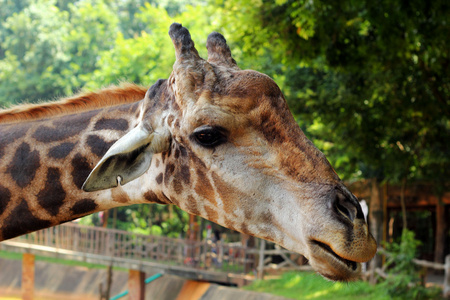
[{"label": "whole visible giraffe, head and neck with mane, facing right", "polygon": [[297,125],[277,84],[241,70],[225,38],[128,84],[0,113],[0,240],[136,203],[174,204],[303,254],[331,280],[376,252],[356,197]]}]

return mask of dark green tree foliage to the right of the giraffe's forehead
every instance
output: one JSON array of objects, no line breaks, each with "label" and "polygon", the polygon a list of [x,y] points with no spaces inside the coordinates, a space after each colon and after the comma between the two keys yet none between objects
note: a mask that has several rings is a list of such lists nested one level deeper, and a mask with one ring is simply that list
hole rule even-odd
[{"label": "dark green tree foliage to the right of the giraffe's forehead", "polygon": [[[346,179],[445,184],[447,1],[227,1],[224,27]],[[248,60],[249,58],[247,58]],[[312,128],[308,128],[312,126]]]}]

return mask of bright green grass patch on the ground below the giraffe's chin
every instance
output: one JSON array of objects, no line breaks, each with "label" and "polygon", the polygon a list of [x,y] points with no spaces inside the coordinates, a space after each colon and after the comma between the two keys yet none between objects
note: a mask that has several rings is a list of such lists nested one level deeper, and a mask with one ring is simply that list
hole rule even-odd
[{"label": "bright green grass patch on the ground below the giraffe's chin", "polygon": [[244,289],[289,299],[390,299],[385,290],[367,282],[330,282],[317,274],[305,272],[284,273],[279,279],[255,281]]}]

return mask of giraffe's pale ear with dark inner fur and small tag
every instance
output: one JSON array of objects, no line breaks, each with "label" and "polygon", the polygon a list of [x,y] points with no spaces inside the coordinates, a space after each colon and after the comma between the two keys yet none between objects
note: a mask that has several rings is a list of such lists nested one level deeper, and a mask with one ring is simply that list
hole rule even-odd
[{"label": "giraffe's pale ear with dark inner fur and small tag", "polygon": [[139,124],[109,148],[82,189],[93,192],[124,185],[148,170],[154,153],[166,151],[169,147],[170,133],[167,130],[150,132]]}]

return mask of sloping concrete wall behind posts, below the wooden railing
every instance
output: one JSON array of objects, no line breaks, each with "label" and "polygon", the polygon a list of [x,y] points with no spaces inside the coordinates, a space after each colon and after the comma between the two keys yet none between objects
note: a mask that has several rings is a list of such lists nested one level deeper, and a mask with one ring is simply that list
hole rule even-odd
[{"label": "sloping concrete wall behind posts, below the wooden railing", "polygon": [[[153,274],[146,274],[150,277]],[[20,297],[22,261],[0,259],[0,299]],[[35,299],[98,300],[99,285],[106,280],[106,269],[89,269],[36,261]],[[127,289],[128,272],[113,271],[111,297]],[[146,300],[282,300],[269,294],[254,293],[232,287],[186,280],[163,275],[146,285]],[[128,297],[121,298],[123,300]]]}]

